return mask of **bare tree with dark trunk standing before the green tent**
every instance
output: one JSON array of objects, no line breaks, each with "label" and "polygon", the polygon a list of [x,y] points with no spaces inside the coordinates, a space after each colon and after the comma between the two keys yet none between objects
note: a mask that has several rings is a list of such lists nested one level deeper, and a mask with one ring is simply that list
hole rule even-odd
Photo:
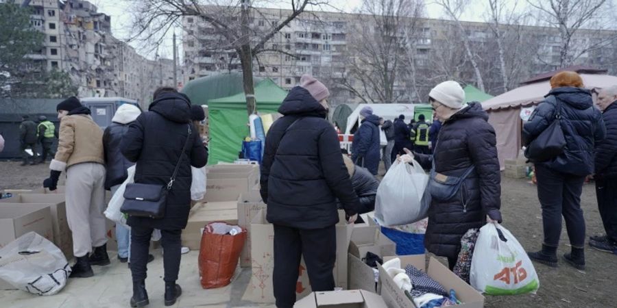
[{"label": "bare tree with dark trunk standing before the green tent", "polygon": [[[243,86],[248,114],[256,110],[252,63],[263,52],[280,49],[267,48],[266,43],[283,27],[305,12],[307,7],[326,4],[322,0],[294,0],[291,11],[276,22],[257,27],[256,18],[267,17],[250,0],[136,0],[134,9],[134,35],[132,40],[160,44],[170,29],[179,25],[182,18],[195,17],[206,23],[208,35],[217,36],[219,44],[210,50],[228,50],[239,59],[243,73]],[[208,50],[205,47],[204,50]]]}]

